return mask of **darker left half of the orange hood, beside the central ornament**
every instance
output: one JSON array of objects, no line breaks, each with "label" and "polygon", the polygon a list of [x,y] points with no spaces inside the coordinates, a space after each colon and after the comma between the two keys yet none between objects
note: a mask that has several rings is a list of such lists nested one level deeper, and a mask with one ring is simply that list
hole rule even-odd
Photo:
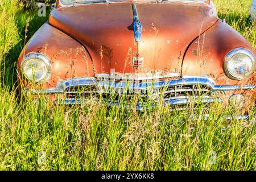
[{"label": "darker left half of the orange hood, beside the central ornament", "polygon": [[84,44],[96,73],[110,73],[112,68],[132,72],[133,67],[123,70],[129,53],[137,53],[133,31],[127,28],[133,23],[130,4],[64,7],[53,11],[49,23]]}]

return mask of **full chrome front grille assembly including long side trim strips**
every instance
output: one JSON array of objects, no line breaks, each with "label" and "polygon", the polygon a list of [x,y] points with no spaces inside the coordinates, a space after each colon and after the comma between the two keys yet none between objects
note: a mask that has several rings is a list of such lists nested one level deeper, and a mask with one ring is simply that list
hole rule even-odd
[{"label": "full chrome front grille assembly including long side trim strips", "polygon": [[[254,89],[255,85],[217,85],[211,78],[183,76],[181,78],[159,78],[133,79],[122,78],[122,80],[96,77],[72,78],[57,83],[57,88],[30,89],[24,92],[32,94],[65,94],[65,104],[81,104],[86,97],[77,97],[77,94],[112,94],[116,96],[150,97],[154,100],[152,106],[158,103],[160,95],[164,95],[163,103],[166,105],[185,105],[195,100],[201,103],[223,102],[228,92],[237,90]],[[221,93],[221,94],[220,94]],[[105,98],[104,104],[113,106],[120,105],[118,99]],[[129,103],[125,104],[126,106]],[[142,103],[137,104],[137,109],[143,109]]]}]

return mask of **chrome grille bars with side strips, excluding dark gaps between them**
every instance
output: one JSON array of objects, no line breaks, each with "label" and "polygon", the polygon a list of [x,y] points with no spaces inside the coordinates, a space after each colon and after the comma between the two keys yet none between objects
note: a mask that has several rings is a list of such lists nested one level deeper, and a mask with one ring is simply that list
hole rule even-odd
[{"label": "chrome grille bars with side strips, excluding dark gaps between them", "polygon": [[[129,85],[127,85],[129,84]],[[202,85],[207,86],[204,87],[204,91],[214,92],[214,91],[223,91],[223,90],[240,90],[240,89],[253,89],[254,85],[216,85],[215,82],[211,78],[207,77],[193,77],[193,76],[183,76],[181,78],[176,78],[174,80],[164,80],[158,82],[129,82],[129,81],[115,81],[115,80],[98,80],[95,77],[82,77],[82,78],[72,78],[65,81],[61,81],[57,83],[57,88],[52,89],[44,89],[44,90],[29,90],[28,92],[32,94],[73,94],[79,93],[79,91],[72,90],[73,86],[93,86],[94,90],[81,90],[81,93],[115,93],[115,94],[122,94],[122,92],[116,92],[116,90],[126,90],[126,89],[134,89],[131,90],[132,92],[125,93],[127,96],[133,95],[133,93],[139,93],[141,96],[147,96],[145,91],[148,91],[148,88],[152,88],[153,92],[150,94],[152,96],[153,104],[151,106],[155,106],[157,102],[159,102],[160,92],[158,92],[158,88],[163,88],[165,86],[170,87],[170,90],[164,90],[163,94],[174,93],[170,97],[164,98],[163,104],[165,105],[185,105],[191,102],[202,102],[202,103],[213,103],[213,102],[222,102],[220,97],[217,97],[217,94],[213,96],[184,96],[183,95],[176,95],[177,93],[183,91],[191,91],[191,88],[185,88],[185,85]],[[178,88],[178,86],[184,86],[184,88]],[[197,88],[195,88],[197,89]],[[155,92],[156,90],[156,92]],[[199,88],[200,90],[200,88]],[[149,90],[150,91],[150,90]],[[193,90],[192,91],[196,91]],[[201,90],[202,91],[202,90]],[[151,93],[151,92],[150,92]],[[68,96],[69,97],[69,96]],[[64,104],[82,104],[88,101],[88,98],[65,98]],[[96,97],[97,98],[97,97]],[[107,98],[102,101],[103,104],[109,106],[119,106],[121,103],[118,100],[109,101]],[[122,104],[126,107],[130,107],[129,102]],[[142,104],[137,104],[135,106],[138,110],[145,109],[145,106]]]}]

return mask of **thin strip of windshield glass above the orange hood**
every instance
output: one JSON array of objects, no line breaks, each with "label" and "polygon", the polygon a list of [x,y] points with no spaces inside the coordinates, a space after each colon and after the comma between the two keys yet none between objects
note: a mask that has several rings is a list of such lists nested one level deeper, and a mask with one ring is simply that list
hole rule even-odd
[{"label": "thin strip of windshield glass above the orange hood", "polygon": [[[125,1],[125,0],[61,0],[63,5],[74,5],[82,3],[96,3],[96,2],[114,2],[114,1]],[[146,1],[146,0],[135,0],[135,1]],[[157,1],[157,0],[150,0]],[[202,2],[204,0],[162,0],[169,2]]]}]

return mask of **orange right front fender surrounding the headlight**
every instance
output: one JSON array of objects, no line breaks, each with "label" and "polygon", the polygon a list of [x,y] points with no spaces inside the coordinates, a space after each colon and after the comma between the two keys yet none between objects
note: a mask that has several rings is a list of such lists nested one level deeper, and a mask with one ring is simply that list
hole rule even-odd
[{"label": "orange right front fender surrounding the headlight", "polygon": [[228,78],[223,70],[224,57],[232,49],[243,47],[255,55],[254,48],[228,24],[216,24],[195,39],[185,53],[182,75],[210,77],[220,85],[255,84],[255,75],[237,81]]}]

